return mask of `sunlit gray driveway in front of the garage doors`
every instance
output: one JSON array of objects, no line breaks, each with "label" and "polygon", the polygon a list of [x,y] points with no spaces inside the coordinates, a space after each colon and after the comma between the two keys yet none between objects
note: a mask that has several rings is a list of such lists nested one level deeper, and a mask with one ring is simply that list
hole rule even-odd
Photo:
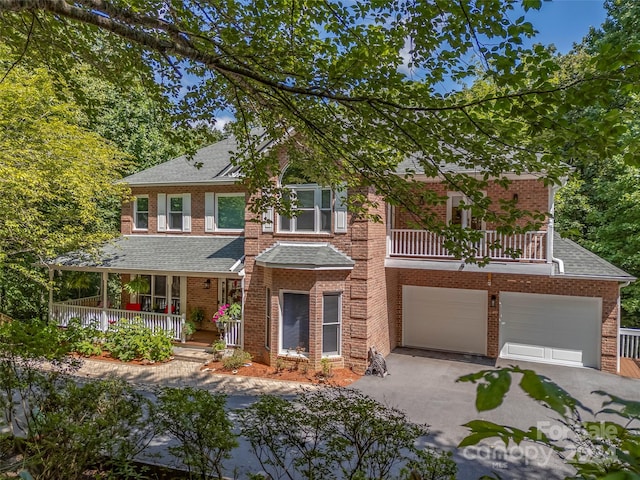
[{"label": "sunlit gray driveway in front of the garage doors", "polygon": [[542,446],[522,444],[505,448],[499,441],[489,441],[478,447],[456,449],[468,433],[461,425],[474,419],[522,429],[538,426],[552,438],[563,438],[564,431],[554,419],[554,412],[530,400],[519,390],[517,382],[502,406],[482,414],[475,409],[476,386],[456,383],[462,375],[513,364],[549,377],[596,411],[602,400],[591,394],[593,390],[602,389],[630,400],[640,400],[640,380],[597,370],[494,361],[404,348],[396,349],[387,357],[390,375],[385,378],[363,377],[354,387],[386,405],[405,411],[411,420],[430,425],[430,443],[454,452],[459,479],[477,479],[492,472],[503,479],[562,479],[572,470]]}]

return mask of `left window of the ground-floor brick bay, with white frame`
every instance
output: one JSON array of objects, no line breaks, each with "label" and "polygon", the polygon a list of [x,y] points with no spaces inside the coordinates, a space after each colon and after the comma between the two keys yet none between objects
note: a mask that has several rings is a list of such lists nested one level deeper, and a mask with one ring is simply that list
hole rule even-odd
[{"label": "left window of the ground-floor brick bay, with white frame", "polygon": [[309,295],[282,294],[281,353],[309,353]]}]

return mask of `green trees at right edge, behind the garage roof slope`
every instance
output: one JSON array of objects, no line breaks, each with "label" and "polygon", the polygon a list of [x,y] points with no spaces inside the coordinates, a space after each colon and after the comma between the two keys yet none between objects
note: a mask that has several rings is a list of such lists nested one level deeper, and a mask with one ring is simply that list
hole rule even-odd
[{"label": "green trees at right edge, behind the garage roof slope", "polygon": [[[607,20],[592,29],[581,45],[562,59],[563,69],[575,72],[584,68],[599,51],[620,48],[640,40],[637,22],[640,6],[627,0],[608,1]],[[587,152],[570,160],[575,172],[560,191],[556,208],[558,231],[632,275],[640,276],[640,169],[634,162],[640,122],[637,92],[616,88],[610,103],[573,112],[594,125],[612,112],[625,110],[632,115],[621,125],[616,151],[602,155]],[[640,326],[640,285],[622,290],[624,326]]]}]

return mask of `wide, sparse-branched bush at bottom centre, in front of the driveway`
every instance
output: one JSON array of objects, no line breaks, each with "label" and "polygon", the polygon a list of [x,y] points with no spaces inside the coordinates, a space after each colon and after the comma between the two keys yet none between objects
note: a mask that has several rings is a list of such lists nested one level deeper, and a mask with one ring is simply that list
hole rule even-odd
[{"label": "wide, sparse-branched bush at bottom centre, in front of the driveway", "polygon": [[270,478],[454,479],[451,454],[423,449],[425,425],[361,392],[263,396],[239,411],[241,434]]}]

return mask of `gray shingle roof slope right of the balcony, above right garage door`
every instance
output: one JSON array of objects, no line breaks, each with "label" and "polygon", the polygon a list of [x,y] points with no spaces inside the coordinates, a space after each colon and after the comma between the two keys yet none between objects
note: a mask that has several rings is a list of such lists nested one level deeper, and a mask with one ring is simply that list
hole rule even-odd
[{"label": "gray shingle roof slope right of the balcony, above right garage door", "polygon": [[[564,263],[564,275],[572,277],[602,278],[603,280],[634,281],[635,277],[610,264],[577,243],[553,236],[553,256]],[[562,275],[556,266],[556,275]]]}]

